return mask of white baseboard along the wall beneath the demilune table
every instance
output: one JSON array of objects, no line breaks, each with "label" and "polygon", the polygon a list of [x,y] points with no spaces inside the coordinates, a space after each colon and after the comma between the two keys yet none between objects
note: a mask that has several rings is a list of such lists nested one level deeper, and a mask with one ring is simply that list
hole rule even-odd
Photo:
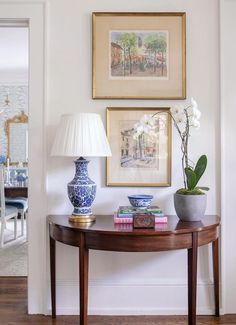
[{"label": "white baseboard along the wall beneath the demilune table", "polygon": [[[57,314],[78,315],[78,282],[59,280],[56,288]],[[213,283],[199,281],[197,289],[197,314],[214,314]],[[187,283],[159,279],[90,280],[88,309],[89,315],[186,315]],[[51,314],[50,303],[46,314]]]}]

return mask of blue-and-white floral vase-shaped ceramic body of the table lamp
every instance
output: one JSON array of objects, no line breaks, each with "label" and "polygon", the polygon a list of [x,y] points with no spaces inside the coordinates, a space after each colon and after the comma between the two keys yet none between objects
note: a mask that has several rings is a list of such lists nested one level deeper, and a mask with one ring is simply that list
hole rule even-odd
[{"label": "blue-and-white floral vase-shaped ceramic body of the table lamp", "polygon": [[96,184],[88,176],[89,161],[80,157],[74,163],[75,177],[68,184],[69,199],[74,206],[73,215],[90,215],[96,195]]}]

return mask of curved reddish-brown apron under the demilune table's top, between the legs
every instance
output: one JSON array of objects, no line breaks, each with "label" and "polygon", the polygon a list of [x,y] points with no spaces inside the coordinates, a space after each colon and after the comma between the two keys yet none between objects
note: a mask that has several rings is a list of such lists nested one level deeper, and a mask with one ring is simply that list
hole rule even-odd
[{"label": "curved reddish-brown apron under the demilune table's top, between the legs", "polygon": [[[117,252],[158,252],[192,247],[192,233],[161,235],[129,235],[83,232],[85,247]],[[80,246],[81,232],[50,225],[50,236],[66,245]],[[198,246],[206,245],[218,237],[217,227],[198,232]]]}]

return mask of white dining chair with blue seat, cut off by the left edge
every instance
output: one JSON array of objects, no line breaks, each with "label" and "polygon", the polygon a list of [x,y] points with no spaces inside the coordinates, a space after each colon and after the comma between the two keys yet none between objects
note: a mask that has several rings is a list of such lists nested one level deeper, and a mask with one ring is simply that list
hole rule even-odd
[{"label": "white dining chair with blue seat, cut off by the left edge", "polygon": [[14,218],[14,239],[17,237],[17,215],[18,210],[14,206],[5,206],[5,193],[4,193],[4,169],[0,166],[0,247],[4,245],[4,231],[6,230],[6,223],[8,220]]}]

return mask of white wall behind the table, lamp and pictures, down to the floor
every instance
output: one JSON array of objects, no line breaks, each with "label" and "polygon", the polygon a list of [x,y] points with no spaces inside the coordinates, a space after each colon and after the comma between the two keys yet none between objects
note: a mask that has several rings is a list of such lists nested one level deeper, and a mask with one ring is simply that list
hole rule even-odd
[{"label": "white wall behind the table, lamp and pictures, down to the floor", "polygon": [[[63,113],[97,112],[105,122],[107,106],[170,106],[176,101],[92,100],[91,13],[93,11],[186,11],[187,94],[202,111],[201,128],[191,137],[191,157],[205,153],[209,166],[202,183],[211,188],[207,213],[220,211],[219,21],[216,0],[51,0],[48,17],[48,213],[71,213],[66,185],[73,178],[72,160],[50,157]],[[182,101],[180,101],[182,103]],[[173,130],[172,187],[107,188],[105,160],[93,159],[90,176],[97,183],[94,213],[112,214],[127,204],[127,195],[154,194],[166,213],[174,213],[172,196],[182,186],[180,147]],[[78,250],[57,245],[58,312],[78,313]],[[211,313],[212,275],[207,248],[199,253],[198,312]],[[91,252],[89,311],[95,314],[181,314],[187,312],[186,252]],[[48,279],[49,285],[49,279]],[[48,292],[48,304],[50,309]],[[111,299],[112,297],[112,299]],[[122,299],[121,299],[122,297]]]}]

